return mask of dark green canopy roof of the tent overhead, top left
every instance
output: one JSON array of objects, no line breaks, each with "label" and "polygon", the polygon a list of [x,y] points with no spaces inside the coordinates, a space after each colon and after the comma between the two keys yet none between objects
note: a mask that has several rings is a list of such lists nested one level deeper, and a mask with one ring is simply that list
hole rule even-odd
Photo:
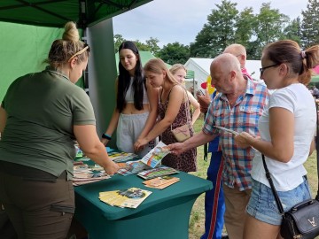
[{"label": "dark green canopy roof of the tent overhead, top left", "polygon": [[0,21],[63,27],[67,21],[89,27],[152,0],[1,0]]}]

